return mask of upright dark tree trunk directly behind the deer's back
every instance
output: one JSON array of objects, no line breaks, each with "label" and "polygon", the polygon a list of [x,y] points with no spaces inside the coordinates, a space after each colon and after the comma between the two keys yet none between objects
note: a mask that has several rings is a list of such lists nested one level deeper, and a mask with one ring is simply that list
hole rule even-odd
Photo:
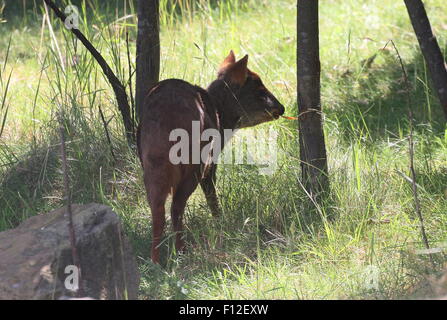
[{"label": "upright dark tree trunk directly behind the deer's back", "polygon": [[142,116],[144,98],[160,72],[159,1],[138,1],[136,114]]}]

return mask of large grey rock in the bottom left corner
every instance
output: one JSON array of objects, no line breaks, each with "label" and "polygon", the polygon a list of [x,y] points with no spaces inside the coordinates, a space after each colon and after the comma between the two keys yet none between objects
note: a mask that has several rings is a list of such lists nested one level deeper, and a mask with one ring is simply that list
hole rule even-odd
[{"label": "large grey rock in the bottom left corner", "polygon": [[[137,299],[139,273],[118,216],[100,204],[73,205],[83,296]],[[0,233],[0,299],[74,297],[66,209],[34,216]],[[68,286],[70,288],[70,286]]]}]

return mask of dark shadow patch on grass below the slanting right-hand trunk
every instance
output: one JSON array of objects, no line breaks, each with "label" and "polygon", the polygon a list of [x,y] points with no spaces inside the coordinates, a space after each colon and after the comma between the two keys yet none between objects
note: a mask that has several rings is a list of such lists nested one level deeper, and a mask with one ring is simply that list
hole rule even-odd
[{"label": "dark shadow patch on grass below the slanting right-hand trunk", "polygon": [[[422,55],[416,53],[411,61],[404,61],[404,67],[411,86],[409,101],[416,131],[428,127],[439,136],[445,130],[445,118],[431,89]],[[326,113],[329,119],[337,120],[346,143],[361,138],[375,142],[407,136],[409,112],[404,79],[392,49],[364,61],[358,74],[348,70],[337,77],[336,86],[342,88],[342,93],[337,97],[338,105],[327,108]]]}]

